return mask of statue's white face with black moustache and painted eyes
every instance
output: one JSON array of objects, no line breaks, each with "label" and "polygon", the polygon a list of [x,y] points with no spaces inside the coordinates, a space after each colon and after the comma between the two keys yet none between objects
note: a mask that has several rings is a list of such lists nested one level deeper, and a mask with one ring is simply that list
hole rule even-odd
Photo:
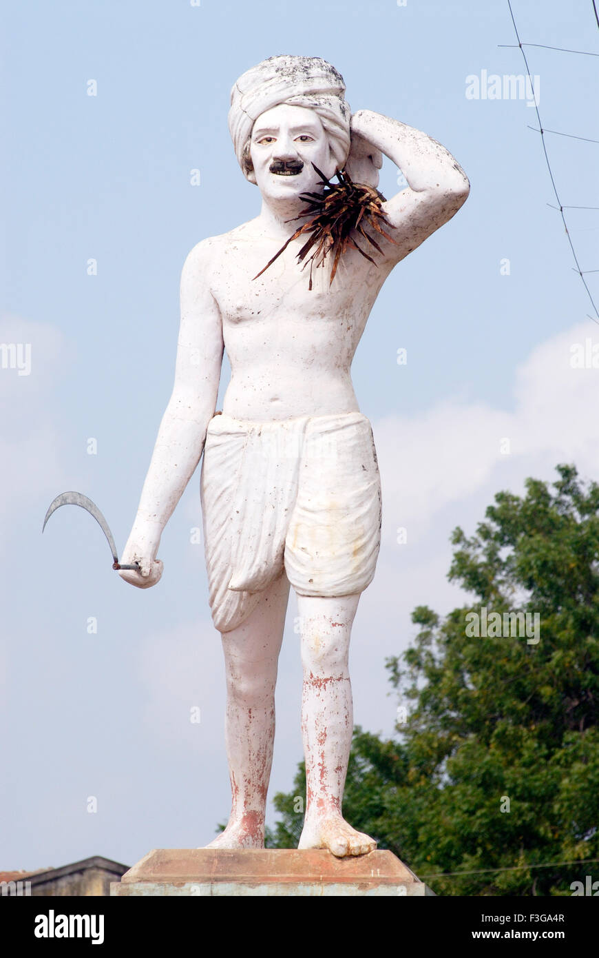
[{"label": "statue's white face with black moustache and painted eyes", "polygon": [[335,172],[321,118],[305,106],[281,103],[262,113],[252,129],[250,158],[258,189],[270,199],[318,191],[313,163],[329,179]]}]

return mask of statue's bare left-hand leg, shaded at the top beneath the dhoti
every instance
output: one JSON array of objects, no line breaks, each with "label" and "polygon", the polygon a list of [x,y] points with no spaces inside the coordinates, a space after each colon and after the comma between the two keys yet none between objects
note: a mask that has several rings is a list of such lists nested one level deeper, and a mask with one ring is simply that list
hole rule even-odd
[{"label": "statue's bare left-hand leg, shaded at the top beneath the dhoti", "polygon": [[240,626],[222,633],[227,676],[225,741],[232,809],[208,848],[263,848],[266,793],[275,739],[277,660],[289,582],[283,573]]}]

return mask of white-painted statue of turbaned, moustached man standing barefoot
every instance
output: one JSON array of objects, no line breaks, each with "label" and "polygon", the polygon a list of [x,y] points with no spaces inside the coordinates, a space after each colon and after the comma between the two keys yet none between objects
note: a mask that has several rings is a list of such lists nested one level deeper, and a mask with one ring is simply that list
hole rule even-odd
[{"label": "white-painted statue of turbaned, moustached man standing barefoot", "polygon": [[[320,57],[270,57],[232,90],[229,126],[260,213],[189,253],[181,278],[175,382],[122,555],[159,581],[166,521],[202,452],[211,612],[227,673],[233,805],[211,848],[261,848],[275,735],[275,684],[289,585],[299,606],[307,805],[300,849],[375,848],[342,816],[353,717],[347,654],[380,545],[381,491],[370,423],[350,366],[393,266],[453,217],[469,192],[454,157],[425,133],[370,110],[350,114],[344,80]],[[384,202],[387,239],[370,259],[346,248],[308,270],[289,239],[301,194],[345,169],[376,186],[384,153],[409,188]],[[289,220],[292,220],[291,222]],[[372,262],[372,261],[375,262]],[[256,274],[259,276],[256,277]],[[223,350],[232,377],[215,412]]]}]

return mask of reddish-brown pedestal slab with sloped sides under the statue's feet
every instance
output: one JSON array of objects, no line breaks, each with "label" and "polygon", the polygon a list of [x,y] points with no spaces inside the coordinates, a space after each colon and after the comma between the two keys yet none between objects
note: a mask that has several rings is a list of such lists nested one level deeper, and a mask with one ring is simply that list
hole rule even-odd
[{"label": "reddish-brown pedestal slab with sloped sides under the statue's feet", "polygon": [[111,895],[433,895],[391,852],[336,858],[294,849],[154,849],[113,881]]}]

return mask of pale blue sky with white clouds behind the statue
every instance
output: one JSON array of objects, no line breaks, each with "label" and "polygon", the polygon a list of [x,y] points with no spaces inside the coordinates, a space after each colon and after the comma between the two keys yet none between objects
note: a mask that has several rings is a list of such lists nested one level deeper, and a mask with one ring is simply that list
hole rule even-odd
[{"label": "pale blue sky with white clouds behind the statue", "polygon": [[[513,9],[522,40],[599,53],[590,0]],[[352,110],[425,130],[471,181],[457,216],[389,277],[353,364],[384,495],[379,569],[352,639],[365,728],[392,732],[384,661],[410,641],[411,608],[460,600],[445,579],[455,525],[472,531],[497,490],[551,478],[558,462],[596,475],[599,371],[572,369],[569,355],[599,331],[547,206],[534,109],[465,95],[483,70],[522,72],[520,51],[499,47],[515,42],[504,0],[31,0],[5,10],[1,42],[0,342],[31,344],[32,367],[0,369],[0,868],[87,855],[132,864],[153,847],[206,844],[229,811],[220,640],[202,546],[190,542],[199,470],[166,527],[154,589],[118,580],[81,511],[57,513],[43,538],[41,522],[57,492],[77,489],[119,548],[128,535],[172,386],[185,257],[259,209],[227,128],[234,80],[275,54],[324,57]],[[599,139],[596,59],[527,56],[544,126]],[[597,145],[546,143],[563,202],[599,206]],[[388,160],[380,187],[398,188]],[[597,212],[571,210],[568,225],[582,268],[599,268]],[[292,598],[271,794],[291,786],[301,759],[295,614]]]}]

